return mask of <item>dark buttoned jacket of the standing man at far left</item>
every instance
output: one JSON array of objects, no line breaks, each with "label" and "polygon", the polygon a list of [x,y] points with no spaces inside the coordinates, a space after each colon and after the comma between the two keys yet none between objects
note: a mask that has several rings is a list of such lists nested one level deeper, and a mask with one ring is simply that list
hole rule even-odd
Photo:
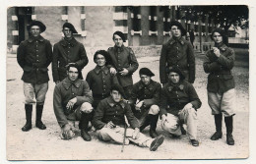
[{"label": "dark buttoned jacket of the standing man at far left", "polygon": [[52,47],[42,36],[31,36],[21,42],[17,51],[17,61],[24,71],[22,80],[28,83],[49,81],[48,69],[52,61]]}]

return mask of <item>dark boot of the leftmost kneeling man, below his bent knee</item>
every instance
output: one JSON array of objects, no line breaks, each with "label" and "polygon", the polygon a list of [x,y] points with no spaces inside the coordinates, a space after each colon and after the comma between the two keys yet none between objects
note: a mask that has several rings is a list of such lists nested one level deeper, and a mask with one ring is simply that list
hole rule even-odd
[{"label": "dark boot of the leftmost kneeling man, below his bent knee", "polygon": [[79,128],[81,130],[81,137],[86,141],[91,141],[92,137],[88,134],[90,131],[89,122],[93,118],[93,113],[82,112],[81,120],[79,122]]}]

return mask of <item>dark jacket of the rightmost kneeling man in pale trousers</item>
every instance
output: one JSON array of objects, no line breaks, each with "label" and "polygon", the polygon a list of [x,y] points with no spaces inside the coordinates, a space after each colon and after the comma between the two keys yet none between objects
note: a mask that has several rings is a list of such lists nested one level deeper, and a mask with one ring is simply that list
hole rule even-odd
[{"label": "dark jacket of the rightmost kneeling man in pale trousers", "polygon": [[181,81],[178,84],[168,82],[161,89],[160,116],[166,113],[177,116],[178,112],[188,103],[191,103],[196,110],[201,107],[202,103],[194,86],[186,81]]}]

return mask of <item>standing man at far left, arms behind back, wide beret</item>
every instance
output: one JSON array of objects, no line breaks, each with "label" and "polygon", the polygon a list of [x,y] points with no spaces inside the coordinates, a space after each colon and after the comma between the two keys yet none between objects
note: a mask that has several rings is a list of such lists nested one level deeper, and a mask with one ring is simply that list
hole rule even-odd
[{"label": "standing man at far left, arms behind back, wide beret", "polygon": [[44,39],[40,33],[46,27],[39,21],[32,21],[28,26],[30,37],[23,41],[17,52],[17,61],[24,71],[22,80],[24,81],[26,125],[22,131],[27,132],[32,129],[32,104],[33,96],[36,99],[36,121],[35,127],[45,130],[45,125],[41,122],[41,115],[45,94],[48,90],[48,69],[52,61],[52,48],[48,40]]}]

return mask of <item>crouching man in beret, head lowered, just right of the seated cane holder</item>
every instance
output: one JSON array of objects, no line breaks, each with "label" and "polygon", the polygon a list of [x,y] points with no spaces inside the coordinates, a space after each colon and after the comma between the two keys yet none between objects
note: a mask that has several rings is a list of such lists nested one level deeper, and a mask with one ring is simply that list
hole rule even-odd
[{"label": "crouching man in beret, head lowered, just right of the seated cane holder", "polygon": [[155,74],[148,68],[142,68],[139,74],[141,81],[133,85],[129,103],[135,117],[139,119],[140,131],[150,125],[150,136],[158,137],[156,128],[160,112],[160,82],[151,79]]}]

